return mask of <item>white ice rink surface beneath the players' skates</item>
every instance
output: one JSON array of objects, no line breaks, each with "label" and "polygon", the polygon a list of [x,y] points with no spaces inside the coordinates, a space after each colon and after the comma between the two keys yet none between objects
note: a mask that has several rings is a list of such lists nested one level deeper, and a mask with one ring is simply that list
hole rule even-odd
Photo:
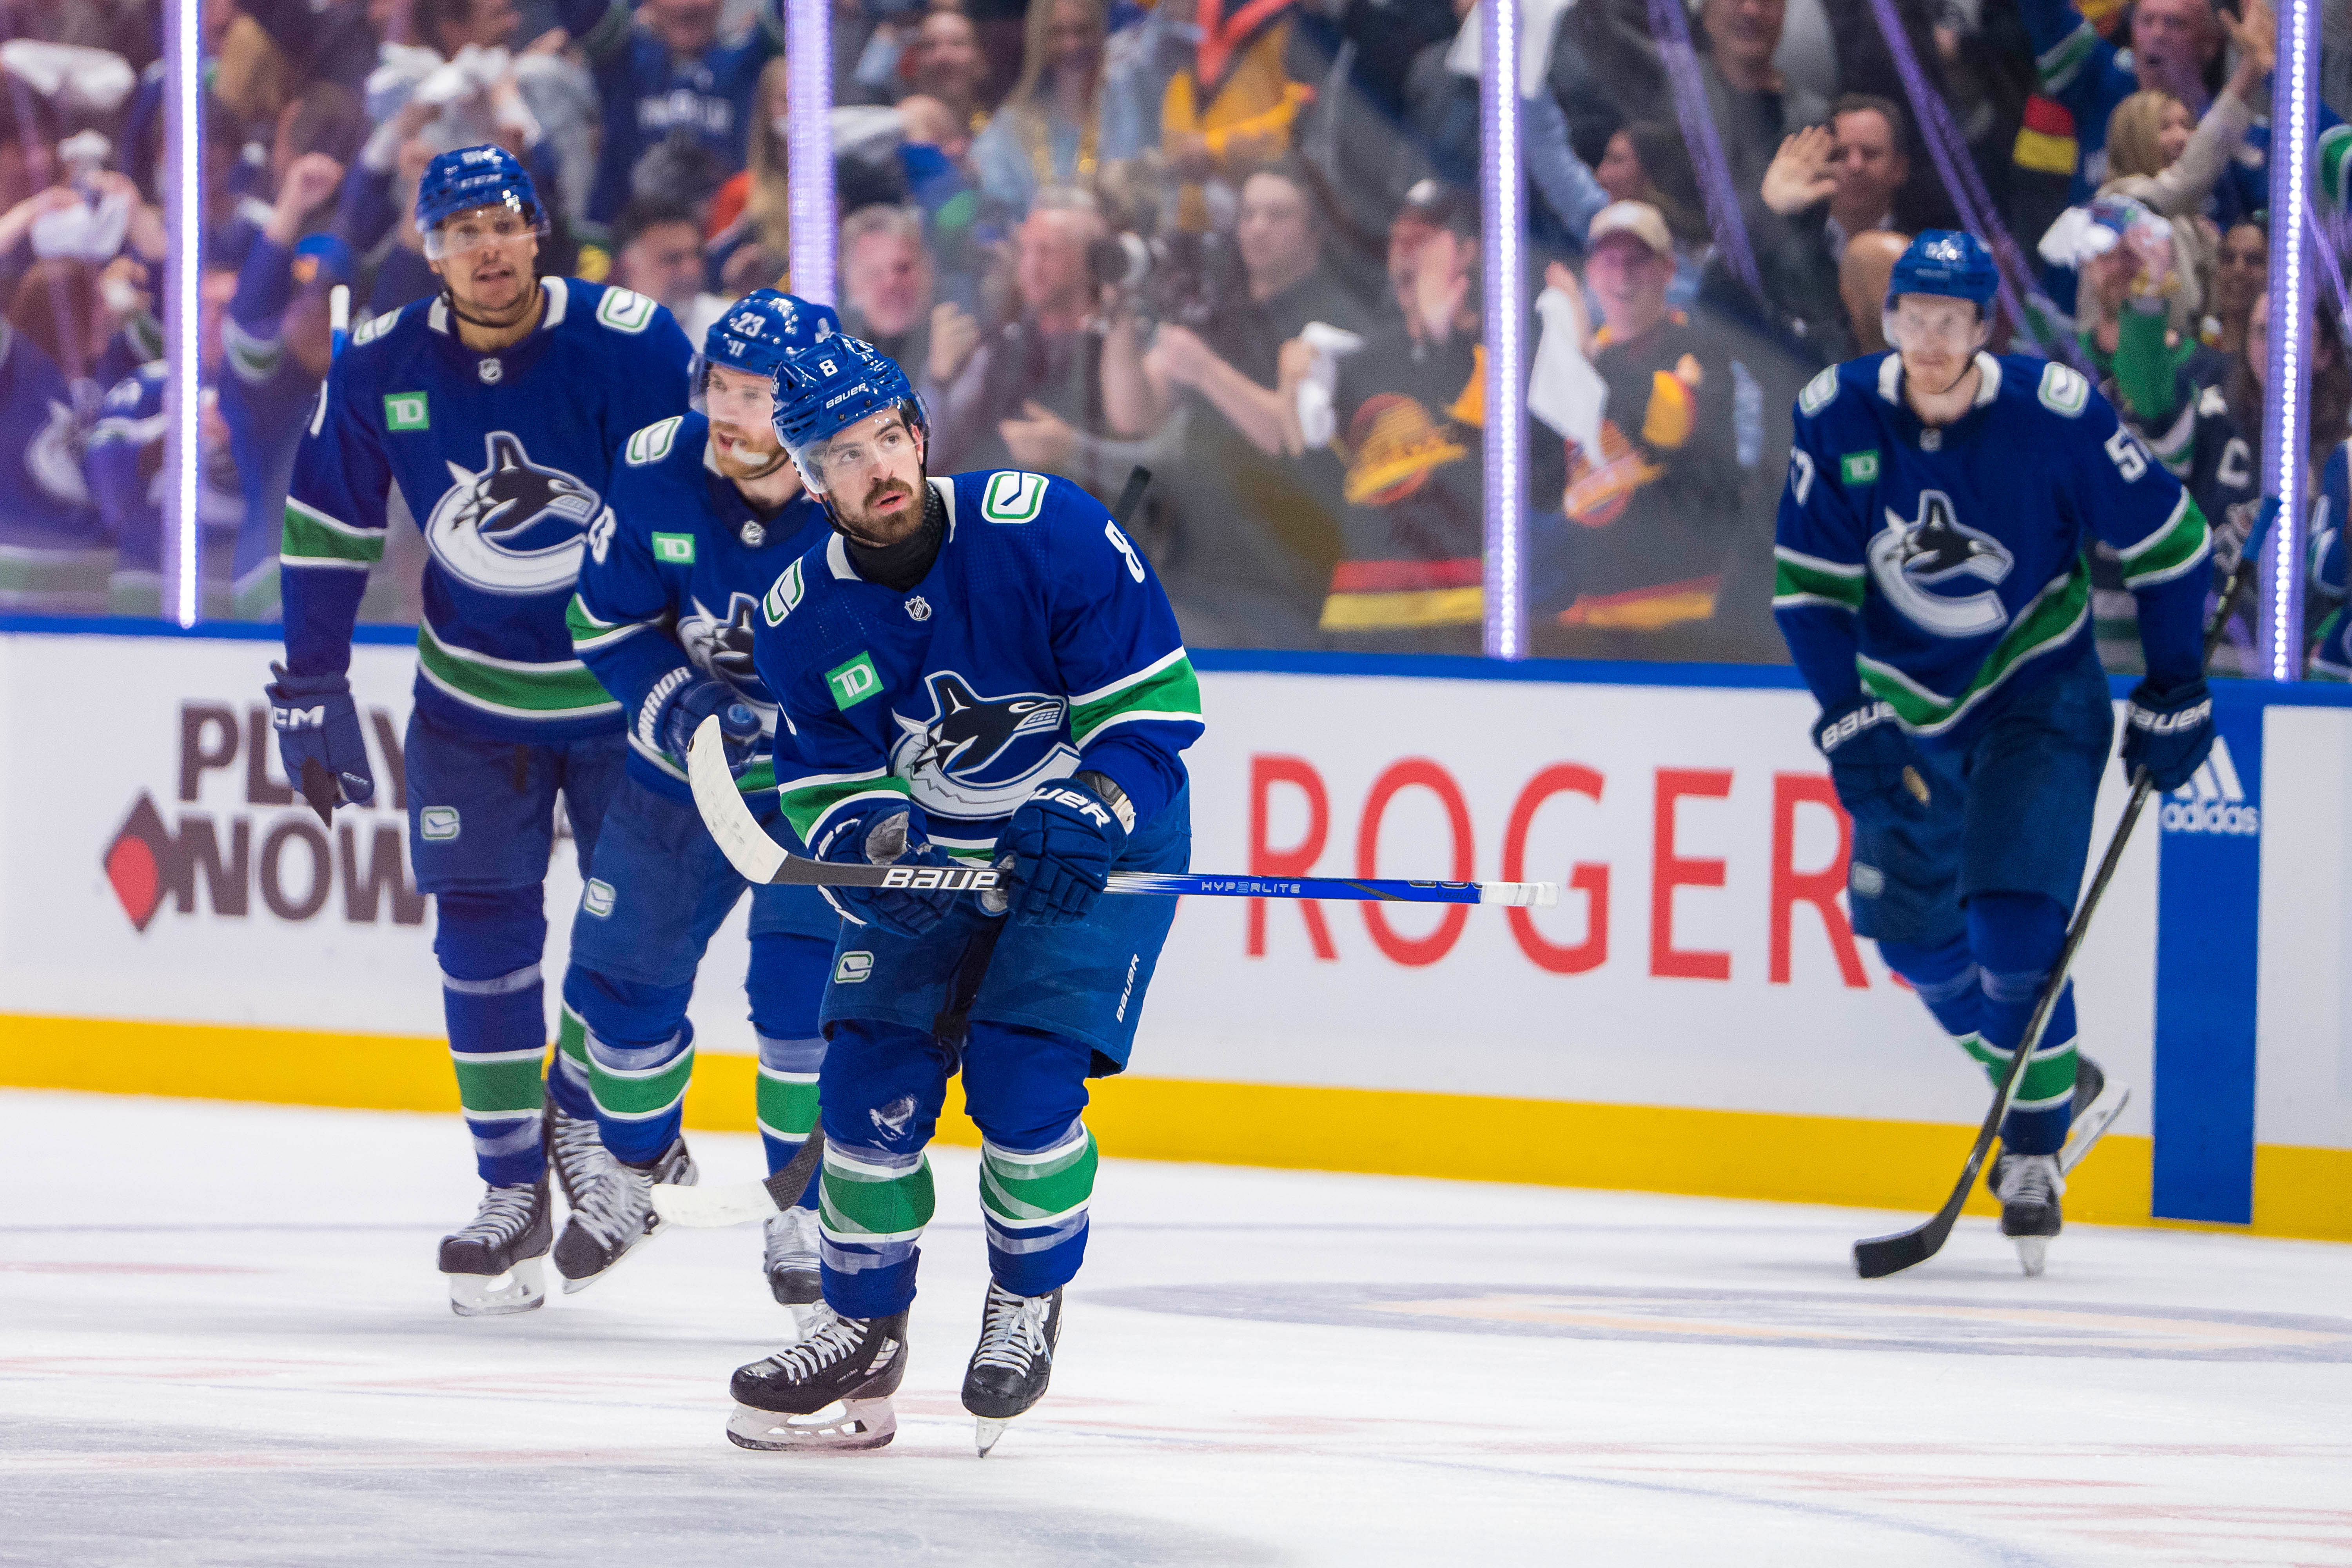
[{"label": "white ice rink surface beneath the players' skates", "polygon": [[2352,1563],[2343,1246],[2074,1227],[2027,1281],[1964,1220],[1863,1284],[1896,1215],[1105,1159],[983,1462],[938,1150],[898,1441],[809,1458],[722,1436],[757,1227],[461,1321],[454,1117],[0,1091],[0,1563]]}]

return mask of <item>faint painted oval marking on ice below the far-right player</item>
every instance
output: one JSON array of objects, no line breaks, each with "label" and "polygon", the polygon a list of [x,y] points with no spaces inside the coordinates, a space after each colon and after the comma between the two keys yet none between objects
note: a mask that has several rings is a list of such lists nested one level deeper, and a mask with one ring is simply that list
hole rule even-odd
[{"label": "faint painted oval marking on ice below the far-right player", "polygon": [[2107,1302],[1491,1284],[1089,1291],[1143,1312],[1446,1333],[2166,1361],[2352,1361],[2352,1319]]}]

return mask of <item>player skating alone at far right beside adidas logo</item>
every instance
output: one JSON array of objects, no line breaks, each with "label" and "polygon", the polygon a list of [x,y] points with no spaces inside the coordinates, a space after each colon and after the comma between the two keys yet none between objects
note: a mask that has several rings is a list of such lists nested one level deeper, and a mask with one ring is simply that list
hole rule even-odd
[{"label": "player skating alone at far right beside adidas logo", "polygon": [[[1853,929],[1999,1077],[2082,884],[2112,731],[2084,548],[2114,545],[2147,677],[2124,769],[2157,790],[2213,745],[2206,520],[2077,371],[1983,353],[1992,259],[1929,230],[1886,292],[1893,353],[1797,397],[1773,611],[1820,701],[1813,743],[1853,818]],[[2074,1098],[2096,1095],[2060,994],[1990,1171],[2042,1272]]]}]

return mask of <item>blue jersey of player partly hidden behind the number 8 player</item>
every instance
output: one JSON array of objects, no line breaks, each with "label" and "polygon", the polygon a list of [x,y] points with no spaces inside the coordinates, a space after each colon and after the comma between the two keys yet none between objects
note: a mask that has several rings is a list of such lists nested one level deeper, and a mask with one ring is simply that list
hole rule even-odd
[{"label": "blue jersey of player partly hidden behind the number 8 player", "polygon": [[[694,799],[682,757],[661,750],[654,717],[680,672],[727,682],[776,733],[776,698],[753,668],[753,618],[776,574],[833,534],[826,508],[793,496],[760,517],[710,465],[710,421],[673,414],[628,437],[567,618],[572,649],[621,701],[628,771],[670,799]],[[776,788],[769,762],[739,780]]]}]

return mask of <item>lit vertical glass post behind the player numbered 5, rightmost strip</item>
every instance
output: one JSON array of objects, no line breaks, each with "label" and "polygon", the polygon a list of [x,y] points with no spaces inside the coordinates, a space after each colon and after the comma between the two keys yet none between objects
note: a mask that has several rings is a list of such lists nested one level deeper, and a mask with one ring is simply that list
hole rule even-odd
[{"label": "lit vertical glass post behind the player numbered 5, rightmost strip", "polygon": [[2279,7],[2279,68],[2270,78],[2270,374],[2263,386],[2263,480],[2279,498],[2263,569],[2260,646],[2272,679],[2303,679],[2303,512],[2310,484],[2310,388],[2303,331],[2310,317],[2312,99],[2319,87],[2319,16],[2312,0]]}]

